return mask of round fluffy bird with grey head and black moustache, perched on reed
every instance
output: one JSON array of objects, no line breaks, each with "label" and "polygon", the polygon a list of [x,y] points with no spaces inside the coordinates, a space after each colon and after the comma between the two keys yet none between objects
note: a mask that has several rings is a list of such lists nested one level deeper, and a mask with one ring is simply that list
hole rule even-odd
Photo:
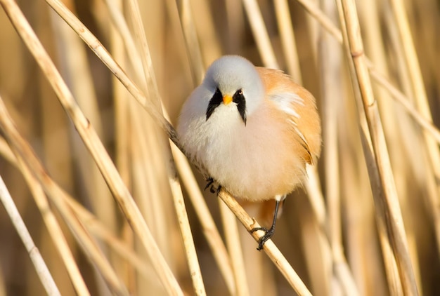
[{"label": "round fluffy bird with grey head and black moustache, perched on reed", "polygon": [[210,182],[238,199],[276,200],[273,223],[257,250],[273,236],[280,201],[302,184],[306,166],[321,152],[315,98],[276,69],[225,55],[183,104],[177,132],[190,161]]}]

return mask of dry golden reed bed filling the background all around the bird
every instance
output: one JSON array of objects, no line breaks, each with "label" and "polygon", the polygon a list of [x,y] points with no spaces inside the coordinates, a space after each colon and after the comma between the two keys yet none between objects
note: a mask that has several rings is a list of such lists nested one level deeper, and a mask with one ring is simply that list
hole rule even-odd
[{"label": "dry golden reed bed filling the background all around the bird", "polygon": [[[158,111],[175,123],[224,54],[283,69],[317,98],[319,179],[287,199],[273,237],[313,295],[439,295],[439,1],[63,1],[117,64],[58,1],[18,1],[25,19],[0,3],[0,176],[62,295],[307,295],[209,190],[208,215],[205,181],[169,148]],[[23,20],[62,79],[20,39]],[[270,223],[273,204],[242,206]],[[44,295],[44,264],[0,213],[0,295]]]}]

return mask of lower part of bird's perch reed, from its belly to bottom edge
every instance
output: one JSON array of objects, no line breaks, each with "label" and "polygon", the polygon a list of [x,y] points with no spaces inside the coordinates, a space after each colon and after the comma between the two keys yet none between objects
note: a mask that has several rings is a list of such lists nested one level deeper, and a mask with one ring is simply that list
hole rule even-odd
[{"label": "lower part of bird's perch reed, from its belly to bottom edge", "polygon": [[[219,198],[226,203],[226,206],[231,209],[234,215],[240,220],[241,224],[246,228],[247,231],[251,231],[256,227],[260,227],[260,225],[252,219],[245,210],[238,204],[235,199],[228,194],[224,189],[221,189],[219,192]],[[252,232],[252,237],[255,241],[259,241],[261,237],[262,231],[254,231]],[[276,265],[278,270],[283,274],[287,282],[295,289],[298,295],[311,295],[311,292],[306,288],[306,285],[302,282],[301,278],[297,275],[292,266],[285,260],[285,257],[280,250],[276,248],[276,245],[269,239],[264,243],[263,246],[264,252],[268,255],[268,257],[272,260],[273,264]]]}]

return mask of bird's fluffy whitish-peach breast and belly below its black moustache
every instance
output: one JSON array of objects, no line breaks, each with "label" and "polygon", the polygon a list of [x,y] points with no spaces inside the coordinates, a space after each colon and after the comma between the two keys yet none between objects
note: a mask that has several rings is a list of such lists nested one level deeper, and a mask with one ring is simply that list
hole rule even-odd
[{"label": "bird's fluffy whitish-peach breast and belly below its black moustache", "polygon": [[[261,104],[243,123],[234,103],[219,105],[209,120],[200,101],[183,106],[179,136],[193,161],[237,198],[250,201],[287,194],[302,180],[304,161],[295,156],[292,125],[275,120]],[[203,109],[205,107],[205,109]]]}]

